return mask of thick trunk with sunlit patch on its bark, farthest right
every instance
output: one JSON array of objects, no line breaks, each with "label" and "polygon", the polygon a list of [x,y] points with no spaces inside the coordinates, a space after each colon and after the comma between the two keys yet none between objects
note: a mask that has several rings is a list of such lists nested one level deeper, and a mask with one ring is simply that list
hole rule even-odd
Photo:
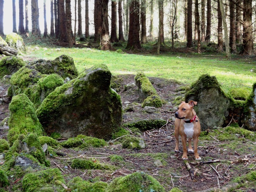
[{"label": "thick trunk with sunlit patch on its bark, farthest right", "polygon": [[251,55],[253,53],[252,38],[252,0],[244,0],[243,13],[243,50],[242,54]]}]

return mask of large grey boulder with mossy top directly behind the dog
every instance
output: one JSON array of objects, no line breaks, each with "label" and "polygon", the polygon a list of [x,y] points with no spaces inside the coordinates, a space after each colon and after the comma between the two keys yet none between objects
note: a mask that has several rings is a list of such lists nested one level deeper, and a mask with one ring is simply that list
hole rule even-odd
[{"label": "large grey boulder with mossy top directly behind the dog", "polygon": [[208,74],[200,76],[191,84],[185,94],[185,100],[197,101],[194,109],[200,119],[202,130],[222,126],[232,104],[232,100],[221,90],[216,77]]}]

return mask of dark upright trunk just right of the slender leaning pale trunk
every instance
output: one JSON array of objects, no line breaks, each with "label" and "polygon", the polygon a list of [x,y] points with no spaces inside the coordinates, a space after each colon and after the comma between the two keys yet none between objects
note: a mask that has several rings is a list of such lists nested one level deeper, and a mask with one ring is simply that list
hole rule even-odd
[{"label": "dark upright trunk just right of the slender leaning pale trunk", "polygon": [[229,46],[231,47],[231,53],[236,53],[236,19],[235,19],[235,3],[233,0],[229,0],[229,18],[230,18],[230,30],[229,30]]}]

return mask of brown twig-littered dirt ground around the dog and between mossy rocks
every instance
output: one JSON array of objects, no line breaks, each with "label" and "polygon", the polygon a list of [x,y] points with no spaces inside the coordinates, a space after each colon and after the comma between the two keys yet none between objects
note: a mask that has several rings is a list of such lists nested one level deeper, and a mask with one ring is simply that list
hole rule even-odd
[{"label": "brown twig-littered dirt ground around the dog and between mossy rocks", "polygon": [[[161,108],[157,108],[154,113],[147,113],[141,108],[137,87],[125,90],[125,85],[135,83],[134,75],[120,75],[121,87],[117,90],[121,95],[123,109],[126,108],[125,102],[136,102],[132,111],[124,112],[123,123],[128,123],[142,119],[156,119],[161,118],[166,120],[166,125],[155,130],[143,132],[140,137],[146,142],[146,148],[142,150],[131,150],[122,148],[121,143],[110,144],[104,148],[89,148],[88,150],[80,150],[78,148],[59,148],[59,150],[67,156],[51,156],[48,154],[47,158],[51,161],[52,167],[59,168],[64,175],[66,182],[73,177],[80,176],[84,180],[111,182],[116,177],[125,176],[127,174],[141,171],[146,172],[156,178],[166,189],[171,190],[173,187],[178,187],[183,191],[200,191],[208,188],[221,188],[227,185],[235,177],[241,176],[255,170],[255,156],[251,151],[239,151],[239,153],[232,148],[227,148],[225,144],[229,141],[200,140],[198,152],[202,161],[209,160],[229,160],[247,158],[248,161],[241,161],[240,163],[214,163],[214,164],[200,164],[194,165],[195,157],[193,153],[188,154],[189,163],[192,171],[195,173],[195,178],[192,179],[187,170],[187,166],[181,159],[182,153],[175,153],[175,138],[174,138],[174,111],[175,106],[172,101],[175,97],[182,95],[182,92],[177,91],[181,86],[175,80],[167,80],[162,78],[150,78],[151,83],[155,87],[157,93],[167,101]],[[9,116],[8,104],[10,98],[7,99],[5,92],[7,88],[5,85],[0,85],[4,90],[0,91],[0,98],[4,102],[0,104],[0,121]],[[124,127],[125,128],[125,127]],[[127,128],[125,128],[127,129]],[[129,130],[129,129],[128,129]],[[129,130],[130,131],[130,130]],[[7,139],[7,130],[0,130],[0,138]],[[247,141],[251,142],[251,141]],[[256,143],[251,143],[256,144]],[[245,144],[246,145],[246,144]],[[225,148],[223,148],[225,146]],[[181,142],[180,142],[181,148]],[[255,154],[255,150],[253,151]],[[124,161],[111,162],[110,155],[120,155]],[[112,164],[117,167],[116,170],[81,170],[72,169],[70,167],[72,159],[81,157],[94,157],[101,163]],[[157,158],[163,158],[165,164],[157,167],[154,162]],[[216,171],[215,171],[215,170]],[[20,178],[12,178],[12,182]],[[21,184],[20,184],[21,185]],[[10,189],[11,190],[11,189]],[[255,191],[255,188],[240,188],[243,191]]]}]

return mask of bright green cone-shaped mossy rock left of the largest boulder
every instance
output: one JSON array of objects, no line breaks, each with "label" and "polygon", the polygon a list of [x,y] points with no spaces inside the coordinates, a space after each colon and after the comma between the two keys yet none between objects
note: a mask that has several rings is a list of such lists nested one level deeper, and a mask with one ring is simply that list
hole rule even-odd
[{"label": "bright green cone-shaped mossy rock left of the largest boulder", "polygon": [[12,144],[20,134],[33,132],[37,136],[42,135],[43,128],[36,116],[33,103],[25,94],[19,94],[12,97],[9,110],[8,140],[10,144]]}]

